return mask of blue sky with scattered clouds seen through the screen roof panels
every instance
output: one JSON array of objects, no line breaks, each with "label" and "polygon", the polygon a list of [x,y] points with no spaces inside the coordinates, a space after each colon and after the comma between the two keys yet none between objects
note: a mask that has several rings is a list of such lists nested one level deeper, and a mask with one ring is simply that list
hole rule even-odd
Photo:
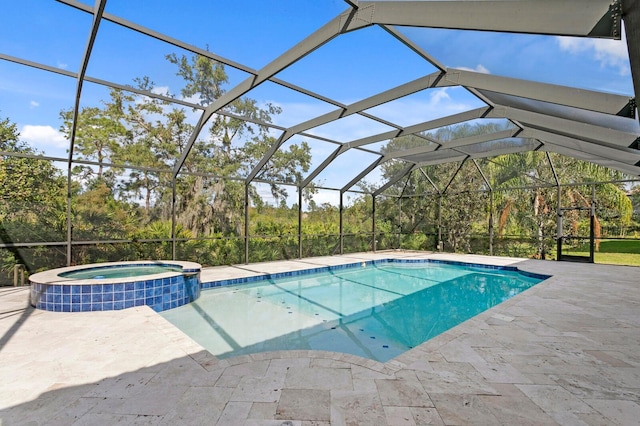
[{"label": "blue sky with scattered clouds seen through the screen roof panels", "polygon": [[[93,1],[83,3],[93,5]],[[347,10],[343,0],[245,0],[153,2],[108,0],[106,13],[259,69],[331,19]],[[91,16],[54,0],[0,0],[0,54],[77,72],[87,43]],[[401,28],[447,67],[537,80],[633,96],[624,40],[533,36],[475,31]],[[157,91],[180,96],[181,82],[165,56],[187,52],[103,22],[89,61],[87,76],[120,84],[149,76]],[[380,27],[340,35],[276,77],[350,104],[435,71]],[[227,67],[229,88],[247,74]],[[18,125],[21,138],[46,155],[67,156],[60,132],[62,110],[74,103],[76,81],[0,59],[0,118]],[[81,106],[99,106],[108,90],[85,83]],[[274,123],[292,126],[335,107],[263,83],[247,94],[260,105],[283,109]],[[463,89],[430,89],[368,111],[406,126],[482,106]],[[192,120],[196,115],[192,114]],[[388,131],[383,124],[351,116],[308,133],[349,142]],[[277,132],[274,133],[276,136]],[[311,144],[313,166],[335,145],[295,137]],[[371,146],[379,149],[382,144]],[[376,156],[351,150],[321,174],[316,183],[338,187]],[[333,184],[333,185],[332,185]]]}]

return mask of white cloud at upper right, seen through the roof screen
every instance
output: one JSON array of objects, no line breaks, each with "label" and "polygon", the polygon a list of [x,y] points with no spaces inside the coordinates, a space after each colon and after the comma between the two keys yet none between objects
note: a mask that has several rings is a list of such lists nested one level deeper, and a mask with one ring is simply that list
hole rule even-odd
[{"label": "white cloud at upper right, seen through the roof screen", "polygon": [[624,31],[622,40],[556,37],[561,50],[572,55],[589,54],[602,66],[618,68],[620,75],[628,75],[629,51]]}]

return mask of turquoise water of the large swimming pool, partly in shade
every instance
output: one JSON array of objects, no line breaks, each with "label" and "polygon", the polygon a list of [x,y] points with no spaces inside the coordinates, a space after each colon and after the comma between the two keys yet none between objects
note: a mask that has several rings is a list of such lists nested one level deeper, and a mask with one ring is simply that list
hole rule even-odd
[{"label": "turquoise water of the large swimming pool, partly in shade", "polygon": [[219,358],[313,349],[385,362],[540,281],[458,265],[369,265],[210,289],[161,315]]}]

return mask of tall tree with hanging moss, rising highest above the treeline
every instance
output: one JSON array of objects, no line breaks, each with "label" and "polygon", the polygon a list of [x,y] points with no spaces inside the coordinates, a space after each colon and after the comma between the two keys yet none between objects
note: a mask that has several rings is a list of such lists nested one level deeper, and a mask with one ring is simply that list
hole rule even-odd
[{"label": "tall tree with hanging moss, rising highest above the treeline", "polygon": [[[224,66],[200,55],[191,57],[168,55],[167,59],[178,67],[177,75],[184,79],[181,94],[185,98],[196,98],[208,106],[225,93],[228,78]],[[242,97],[225,108],[249,120],[271,122],[271,116],[280,113],[280,108],[267,104],[258,106],[253,99]],[[244,182],[241,179],[258,163],[260,158],[276,141],[265,125],[253,125],[222,114],[214,114],[208,131],[194,143],[183,166],[187,172],[180,179],[177,200],[178,220],[194,235],[210,234],[214,230],[225,234],[242,233],[244,210]],[[276,152],[261,171],[266,180],[298,183],[302,172],[309,169],[311,156],[306,143],[292,144],[288,149]],[[188,173],[210,173],[221,178],[207,178]],[[258,194],[249,188],[250,196]],[[271,184],[277,199],[286,198],[284,187]]]}]

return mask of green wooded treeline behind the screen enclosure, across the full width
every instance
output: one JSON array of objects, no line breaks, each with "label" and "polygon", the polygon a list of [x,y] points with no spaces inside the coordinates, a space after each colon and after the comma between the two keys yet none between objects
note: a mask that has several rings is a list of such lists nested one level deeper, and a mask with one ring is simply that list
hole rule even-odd
[{"label": "green wooded treeline behind the screen enclosure, across the full width", "polygon": [[[184,85],[179,96],[206,107],[224,94],[228,83],[223,65],[210,59],[168,55]],[[138,89],[158,90],[148,78]],[[167,94],[172,96],[171,94]],[[177,258],[205,265],[244,262],[245,181],[276,139],[265,125],[281,113],[274,105],[259,105],[243,97],[230,104],[229,115],[215,114],[193,145],[175,181],[173,170],[194,126],[193,111],[155,98],[111,89],[101,105],[79,111],[72,171],[72,262],[167,259],[172,255],[172,223],[178,239]],[[61,131],[71,133],[73,111],[61,111]],[[384,152],[422,146],[428,139],[446,142],[478,133],[503,130],[501,124],[463,124],[438,129],[423,137],[388,142]],[[426,138],[426,139],[425,139]],[[500,141],[495,143],[501,143]],[[39,153],[20,140],[16,125],[0,116],[0,262],[4,271],[16,263],[30,272],[66,265],[64,245],[13,247],[11,244],[60,243],[67,239],[66,164],[34,158]],[[347,193],[343,211],[345,252],[407,248],[488,253],[490,227],[494,254],[547,257],[556,232],[557,187],[549,163],[564,184],[623,179],[613,170],[542,152],[509,154],[463,163],[426,166],[399,180],[376,198],[375,230],[367,194]],[[107,166],[110,165],[110,166]],[[309,171],[307,142],[281,148],[258,174],[269,183],[275,203],[266,204],[248,186],[249,262],[296,258],[298,205],[290,195]],[[136,168],[130,168],[135,166]],[[406,164],[383,165],[385,179]],[[508,189],[518,188],[518,189]],[[598,227],[602,236],[638,237],[638,216],[632,200],[640,191],[622,183],[596,186]],[[308,208],[302,214],[302,256],[330,255],[340,250],[338,206],[314,201],[317,190],[304,189]],[[630,196],[629,196],[630,195]],[[591,187],[565,186],[563,205],[586,206]],[[290,203],[289,203],[290,204]],[[175,217],[173,212],[175,208]],[[636,212],[637,214],[638,212]],[[570,232],[584,234],[579,214],[565,218]],[[80,244],[83,241],[103,243]],[[127,242],[124,242],[127,241]],[[76,244],[77,243],[77,244]]]}]

